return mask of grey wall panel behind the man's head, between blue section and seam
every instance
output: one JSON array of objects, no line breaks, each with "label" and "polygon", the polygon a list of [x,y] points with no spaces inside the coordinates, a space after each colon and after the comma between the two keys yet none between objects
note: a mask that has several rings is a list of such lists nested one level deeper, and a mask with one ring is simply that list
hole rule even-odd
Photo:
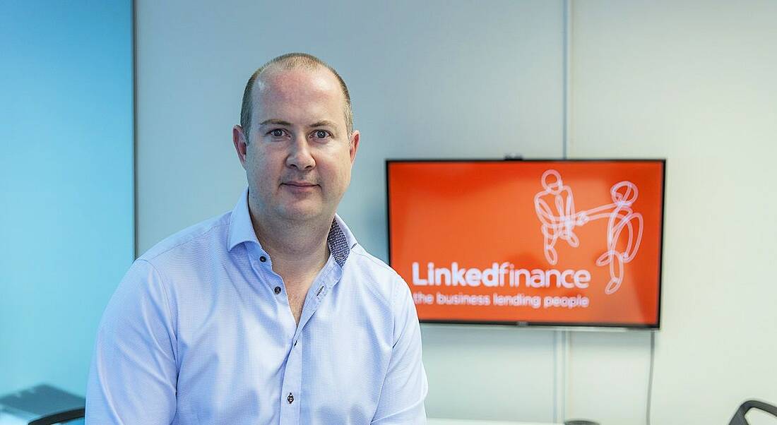
[{"label": "grey wall panel behind the man's head, between blue section and seam", "polygon": [[[362,137],[340,214],[384,260],[385,159],[561,155],[562,2],[137,9],[141,253],[235,204],[246,184],[231,140],[243,87],[288,51],[322,57],[349,85]],[[552,419],[552,332],[424,326],[423,338],[431,416]]]}]

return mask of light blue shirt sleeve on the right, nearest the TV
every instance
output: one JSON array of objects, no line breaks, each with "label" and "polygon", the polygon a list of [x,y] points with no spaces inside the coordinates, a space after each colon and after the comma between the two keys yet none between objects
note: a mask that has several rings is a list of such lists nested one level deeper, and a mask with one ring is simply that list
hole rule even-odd
[{"label": "light blue shirt sleeve on the right, nearest the TV", "polygon": [[427,373],[421,361],[421,329],[410,288],[400,280],[394,294],[394,346],[373,425],[425,424]]}]

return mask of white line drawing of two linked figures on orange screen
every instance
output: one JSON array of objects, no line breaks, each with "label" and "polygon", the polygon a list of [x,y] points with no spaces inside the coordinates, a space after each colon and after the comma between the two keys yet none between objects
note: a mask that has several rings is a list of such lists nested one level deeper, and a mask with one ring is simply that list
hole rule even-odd
[{"label": "white line drawing of two linked figures on orange screen", "polygon": [[[610,188],[611,204],[601,205],[589,210],[575,211],[572,189],[566,186],[561,175],[555,169],[542,173],[542,187],[545,190],[535,195],[535,211],[542,222],[542,235],[545,239],[545,260],[555,265],[559,261],[556,242],[566,241],[573,248],[580,246],[580,239],[574,228],[585,225],[591,220],[607,219],[607,251],[596,260],[597,266],[609,266],[610,281],[605,287],[606,294],[618,291],[623,282],[623,265],[630,263],[642,242],[642,214],[632,211],[632,204],[639,195],[634,183],[624,180]],[[635,229],[636,225],[636,229]],[[627,231],[628,242],[625,249],[619,251],[618,241],[623,230]]]}]

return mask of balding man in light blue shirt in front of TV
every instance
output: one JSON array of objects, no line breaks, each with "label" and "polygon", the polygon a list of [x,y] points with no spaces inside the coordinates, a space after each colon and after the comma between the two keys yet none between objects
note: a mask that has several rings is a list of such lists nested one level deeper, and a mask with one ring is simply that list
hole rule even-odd
[{"label": "balding man in light blue shirt in front of TV", "polygon": [[87,423],[425,423],[409,287],[335,214],[360,134],[340,75],[276,57],[246,85],[235,209],[132,265],[99,326]]}]

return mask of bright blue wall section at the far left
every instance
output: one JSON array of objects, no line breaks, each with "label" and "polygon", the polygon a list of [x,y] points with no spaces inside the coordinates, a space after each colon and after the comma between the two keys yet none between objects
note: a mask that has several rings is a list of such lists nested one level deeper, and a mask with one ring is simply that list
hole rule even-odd
[{"label": "bright blue wall section at the far left", "polygon": [[0,2],[0,394],[85,393],[134,258],[132,5]]}]

